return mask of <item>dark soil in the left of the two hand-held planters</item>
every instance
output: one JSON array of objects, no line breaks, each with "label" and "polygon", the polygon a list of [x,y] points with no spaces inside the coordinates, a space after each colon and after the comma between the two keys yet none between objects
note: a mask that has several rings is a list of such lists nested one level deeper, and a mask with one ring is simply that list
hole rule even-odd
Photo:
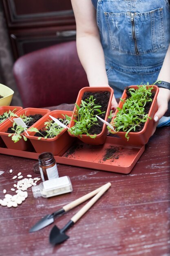
[{"label": "dark soil in the left of the two hand-held planters", "polygon": [[[95,99],[95,104],[102,106],[100,108],[100,110],[103,112],[107,110],[108,108],[108,101],[110,99],[110,92],[102,92],[102,91],[98,91],[98,92],[85,92],[83,94],[82,100],[86,101],[86,99],[89,99],[89,97],[93,95],[93,98]],[[99,113],[96,111],[94,112],[95,115],[99,115]],[[101,117],[102,119],[104,119],[106,116],[106,113],[103,113],[102,115],[99,115],[99,117]],[[88,130],[89,134],[99,134],[102,131],[103,128],[103,122],[98,120],[97,121],[97,125],[94,124],[93,126],[91,126],[91,128]]]}]

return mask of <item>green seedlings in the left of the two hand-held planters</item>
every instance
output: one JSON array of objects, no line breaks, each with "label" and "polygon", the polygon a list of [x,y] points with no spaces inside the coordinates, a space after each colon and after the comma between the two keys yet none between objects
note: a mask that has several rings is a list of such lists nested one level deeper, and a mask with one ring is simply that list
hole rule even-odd
[{"label": "green seedlings in the left of the two hand-held planters", "polygon": [[99,106],[95,104],[95,99],[93,98],[93,95],[89,97],[89,99],[85,99],[85,101],[81,101],[80,106],[78,106],[75,103],[76,110],[74,117],[77,117],[77,119],[74,119],[75,125],[69,129],[69,132],[73,134],[74,136],[80,136],[87,135],[91,138],[95,138],[97,135],[91,135],[88,133],[91,126],[93,125],[99,125],[98,120],[96,117],[97,115],[101,115],[104,112],[100,110],[102,106]]}]

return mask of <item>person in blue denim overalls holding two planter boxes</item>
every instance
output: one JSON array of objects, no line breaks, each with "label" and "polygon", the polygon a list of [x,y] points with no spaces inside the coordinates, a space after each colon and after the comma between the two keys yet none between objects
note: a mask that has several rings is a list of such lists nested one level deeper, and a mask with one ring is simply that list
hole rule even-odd
[{"label": "person in blue denim overalls holding two planter boxes", "polygon": [[[90,86],[111,86],[121,97],[128,85],[170,83],[168,0],[72,0],[77,51]],[[158,121],[170,90],[159,88]],[[113,97],[112,108],[117,107]]]}]

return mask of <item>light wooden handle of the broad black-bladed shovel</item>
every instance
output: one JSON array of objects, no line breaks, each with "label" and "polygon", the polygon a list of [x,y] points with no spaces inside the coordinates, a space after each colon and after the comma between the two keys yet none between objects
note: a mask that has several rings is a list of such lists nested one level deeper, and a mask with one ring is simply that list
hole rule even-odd
[{"label": "light wooden handle of the broad black-bladed shovel", "polygon": [[77,222],[77,220],[79,220],[79,218],[81,218],[84,213],[86,213],[86,211],[88,211],[88,209],[90,209],[92,207],[92,205],[104,194],[104,192],[106,192],[106,190],[108,190],[108,188],[111,186],[111,183],[108,182],[107,184],[105,184],[103,186],[103,188],[94,196],[94,198],[92,198],[87,204],[84,205],[84,207],[82,207],[81,210],[79,210],[72,218],[71,220],[75,223]]}]

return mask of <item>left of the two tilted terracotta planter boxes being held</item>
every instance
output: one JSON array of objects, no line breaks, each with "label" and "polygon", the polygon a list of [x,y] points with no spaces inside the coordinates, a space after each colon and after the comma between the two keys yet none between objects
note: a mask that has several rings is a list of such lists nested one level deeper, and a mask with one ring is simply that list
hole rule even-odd
[{"label": "left of the two tilted terracotta planter boxes being held", "polygon": [[[112,97],[113,97],[113,89],[111,87],[84,87],[79,91],[76,103],[77,103],[78,106],[80,106],[83,94],[85,92],[99,92],[99,91],[110,92],[110,99],[108,101],[108,108],[106,110],[106,115],[105,115],[105,118],[104,118],[104,120],[107,121],[108,115],[109,115],[109,112],[110,112]],[[74,119],[76,119],[75,110],[76,110],[76,106],[74,107],[74,110],[73,110],[73,114],[72,114],[72,118],[71,118],[72,120],[69,124],[69,128],[71,128],[75,125],[75,121],[74,121]],[[82,135],[82,137],[80,135],[78,135],[76,137],[78,139],[80,139],[81,141],[83,141],[84,143],[86,143],[86,144],[99,145],[99,144],[104,144],[104,141],[105,141],[106,136],[107,136],[107,132],[108,132],[108,130],[107,130],[106,124],[103,124],[102,131],[99,134],[97,134],[97,136],[94,139],[92,139],[91,137],[89,137],[85,134]],[[69,131],[68,131],[68,133],[69,133],[70,136],[75,137],[75,135],[72,135]]]}]

